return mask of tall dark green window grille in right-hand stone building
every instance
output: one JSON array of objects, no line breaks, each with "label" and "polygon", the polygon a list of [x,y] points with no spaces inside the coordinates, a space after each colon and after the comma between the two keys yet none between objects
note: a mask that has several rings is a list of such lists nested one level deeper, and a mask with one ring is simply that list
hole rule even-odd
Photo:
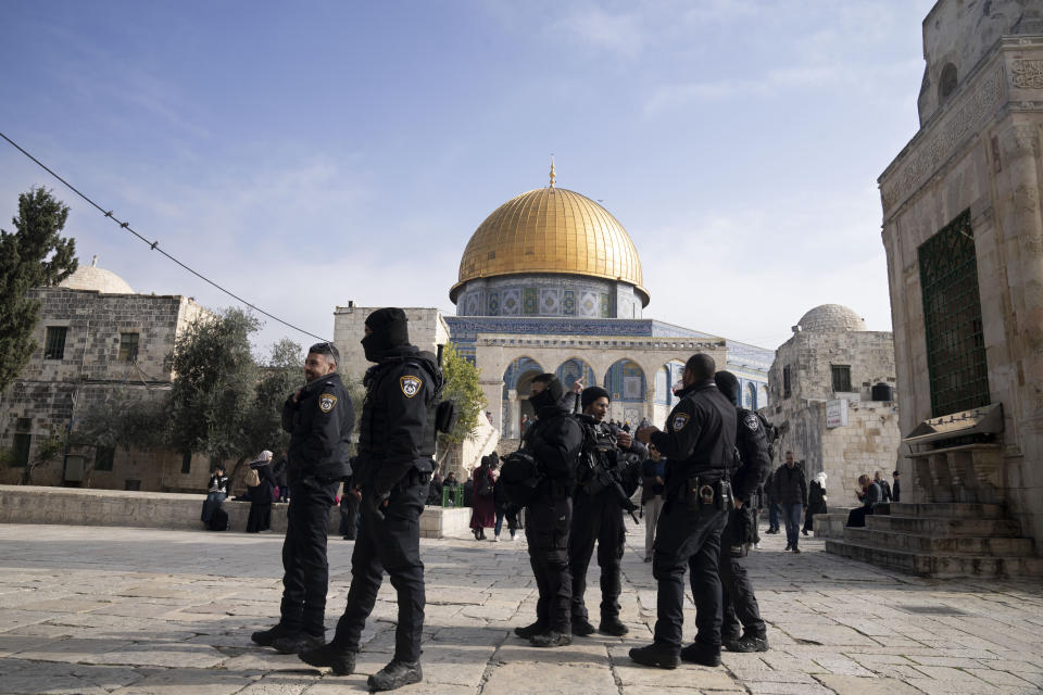
[{"label": "tall dark green window grille in right-hand stone building", "polygon": [[923,332],[933,417],[989,404],[970,211],[920,244]]}]

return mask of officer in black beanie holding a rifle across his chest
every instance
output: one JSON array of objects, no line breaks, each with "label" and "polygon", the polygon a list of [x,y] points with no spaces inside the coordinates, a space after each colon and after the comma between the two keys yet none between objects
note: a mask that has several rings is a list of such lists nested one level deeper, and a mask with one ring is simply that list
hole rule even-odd
[{"label": "officer in black beanie holding a rifle across his chest", "polygon": [[[633,463],[627,454],[637,460],[644,460],[648,448],[634,442],[629,432],[604,422],[608,414],[608,392],[599,387],[588,387],[580,394],[583,412],[576,416],[589,432],[586,438],[585,456],[595,458],[594,465],[613,470],[617,482],[632,480],[637,483]],[[593,440],[593,441],[591,441]],[[587,451],[592,448],[592,451]],[[630,465],[628,465],[628,463]],[[573,528],[568,539],[568,569],[573,576],[573,634],[587,636],[594,632],[587,614],[583,593],[587,591],[587,568],[598,543],[598,567],[601,568],[601,622],[598,630],[605,634],[623,636],[627,626],[619,620],[619,592],[621,578],[619,563],[623,560],[627,530],[623,522],[623,506],[618,493],[605,486],[603,480],[587,472],[576,486],[573,501]],[[625,492],[637,489],[624,486]]]}]

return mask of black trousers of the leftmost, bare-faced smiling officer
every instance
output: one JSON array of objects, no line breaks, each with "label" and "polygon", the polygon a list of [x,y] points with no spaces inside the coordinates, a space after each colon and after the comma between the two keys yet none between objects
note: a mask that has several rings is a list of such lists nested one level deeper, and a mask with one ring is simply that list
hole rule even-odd
[{"label": "black trousers of the leftmost, bare-faced smiling officer", "polygon": [[313,635],[326,632],[326,591],[329,565],[326,538],[329,508],[334,506],[340,483],[321,482],[312,477],[293,485],[286,511],[286,539],[282,541],[282,603],[279,623],[289,630]]}]

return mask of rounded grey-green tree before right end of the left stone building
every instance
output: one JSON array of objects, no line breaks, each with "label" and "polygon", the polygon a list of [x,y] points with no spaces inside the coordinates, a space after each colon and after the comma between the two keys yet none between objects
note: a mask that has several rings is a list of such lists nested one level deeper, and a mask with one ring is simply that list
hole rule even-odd
[{"label": "rounded grey-green tree before right end of the left stone building", "polygon": [[254,412],[259,370],[250,354],[256,318],[239,308],[201,317],[177,338],[171,355],[174,384],[167,409],[171,444],[213,460],[241,459],[254,447],[248,418]]}]

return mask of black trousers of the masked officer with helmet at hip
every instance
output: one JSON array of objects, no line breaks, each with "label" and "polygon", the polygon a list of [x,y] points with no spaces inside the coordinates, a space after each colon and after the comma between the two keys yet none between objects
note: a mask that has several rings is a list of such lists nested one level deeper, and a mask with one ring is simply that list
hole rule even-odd
[{"label": "black trousers of the masked officer with helmet at hip", "polygon": [[525,513],[525,538],[539,599],[536,620],[543,631],[571,634],[573,581],[568,571],[568,534],[573,498],[542,493]]}]

